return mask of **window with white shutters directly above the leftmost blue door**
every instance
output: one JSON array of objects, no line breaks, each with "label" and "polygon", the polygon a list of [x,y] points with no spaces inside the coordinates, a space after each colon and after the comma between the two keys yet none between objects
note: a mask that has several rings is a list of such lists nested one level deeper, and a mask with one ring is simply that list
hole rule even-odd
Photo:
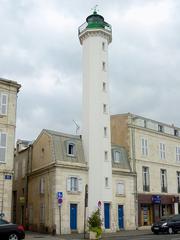
[{"label": "window with white shutters directly above the leftmost blue door", "polygon": [[67,179],[68,192],[82,192],[82,179],[76,176],[68,177]]}]

